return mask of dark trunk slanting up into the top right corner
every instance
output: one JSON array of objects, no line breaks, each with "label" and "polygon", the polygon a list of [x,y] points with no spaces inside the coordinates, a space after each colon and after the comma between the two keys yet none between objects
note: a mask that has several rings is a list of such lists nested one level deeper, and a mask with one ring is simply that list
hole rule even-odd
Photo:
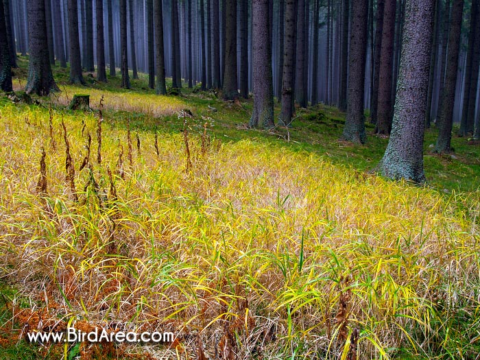
[{"label": "dark trunk slanting up into the top right corner", "polygon": [[[480,33],[480,19],[478,16],[479,9],[479,0],[472,0],[472,8],[470,10],[470,30],[468,34],[468,51],[467,51],[467,64],[465,69],[465,86],[464,86],[464,104],[461,111],[461,122],[460,122],[460,136],[466,136],[469,130],[469,123],[473,121],[473,117],[470,118],[470,101],[473,101],[473,108],[475,113],[475,102],[477,101],[476,96],[470,96],[470,93],[474,92],[477,95],[477,81],[478,81],[478,62],[474,64],[475,51],[480,51],[480,49],[475,49],[480,46],[480,43],[475,44],[475,37]],[[474,66],[476,66],[474,68]],[[477,73],[475,75],[475,73]],[[475,115],[474,115],[475,116]],[[470,129],[473,127],[470,125]]]}]

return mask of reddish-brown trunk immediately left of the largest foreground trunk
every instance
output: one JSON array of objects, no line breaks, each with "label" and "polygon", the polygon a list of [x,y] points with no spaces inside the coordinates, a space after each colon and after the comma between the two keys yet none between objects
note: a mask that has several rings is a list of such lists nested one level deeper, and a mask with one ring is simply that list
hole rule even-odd
[{"label": "reddish-brown trunk immediately left of the largest foreground trunk", "polygon": [[376,133],[388,135],[392,130],[392,70],[394,56],[396,0],[385,0],[383,34],[379,68],[379,108]]}]

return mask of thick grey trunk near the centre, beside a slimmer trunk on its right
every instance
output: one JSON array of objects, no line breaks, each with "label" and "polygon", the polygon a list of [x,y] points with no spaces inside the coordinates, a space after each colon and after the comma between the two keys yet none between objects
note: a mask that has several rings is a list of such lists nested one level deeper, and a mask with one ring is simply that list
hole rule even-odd
[{"label": "thick grey trunk near the centre, beside a slimmer trunk on its right", "polygon": [[[289,0],[291,1],[291,0]],[[274,127],[274,84],[272,49],[269,38],[268,0],[252,0],[253,93],[254,107],[250,128]]]}]

